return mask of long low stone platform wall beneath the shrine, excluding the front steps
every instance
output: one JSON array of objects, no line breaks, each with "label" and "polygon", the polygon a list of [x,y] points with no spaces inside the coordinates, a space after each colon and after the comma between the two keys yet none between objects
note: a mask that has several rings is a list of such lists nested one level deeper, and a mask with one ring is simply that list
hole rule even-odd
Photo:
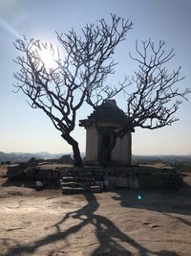
[{"label": "long low stone platform wall beneath the shrine, excluding the front steps", "polygon": [[103,182],[105,188],[150,188],[179,187],[182,178],[174,169],[158,169],[153,167],[74,167],[74,166],[11,166],[7,176],[32,180],[58,180],[63,176],[92,177]]}]

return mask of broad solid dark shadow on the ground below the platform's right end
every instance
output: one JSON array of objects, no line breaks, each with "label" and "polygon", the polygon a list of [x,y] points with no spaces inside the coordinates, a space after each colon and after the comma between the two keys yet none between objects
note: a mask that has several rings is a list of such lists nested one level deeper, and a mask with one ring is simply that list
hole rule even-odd
[{"label": "broad solid dark shadow on the ground below the platform's right end", "polygon": [[117,197],[122,207],[146,209],[176,219],[187,226],[191,221],[176,215],[191,216],[191,187],[184,184],[180,190],[148,189],[117,190]]}]

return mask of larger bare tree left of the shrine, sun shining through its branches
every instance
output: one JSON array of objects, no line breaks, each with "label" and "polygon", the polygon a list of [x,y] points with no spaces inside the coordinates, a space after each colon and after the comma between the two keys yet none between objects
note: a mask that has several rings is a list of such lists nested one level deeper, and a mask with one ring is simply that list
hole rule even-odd
[{"label": "larger bare tree left of the shrine, sun shining through its branches", "polygon": [[[126,80],[117,87],[104,84],[107,76],[114,74],[117,63],[112,57],[117,44],[132,28],[128,20],[111,16],[111,25],[101,19],[96,26],[86,25],[81,36],[74,30],[64,35],[56,33],[63,47],[62,58],[58,49],[40,40],[23,37],[14,43],[20,53],[15,59],[20,70],[14,74],[18,81],[14,86],[29,97],[33,108],[40,108],[48,115],[63,139],[73,147],[76,166],[82,165],[78,143],[71,135],[77,110],[84,102],[96,108],[127,86]],[[57,54],[54,68],[48,68],[40,56],[48,47],[53,56]]]}]

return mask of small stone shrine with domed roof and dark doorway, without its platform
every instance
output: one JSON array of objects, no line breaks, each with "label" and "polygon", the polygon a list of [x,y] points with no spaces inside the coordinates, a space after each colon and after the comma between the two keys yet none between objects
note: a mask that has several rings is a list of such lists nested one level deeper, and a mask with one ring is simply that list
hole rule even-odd
[{"label": "small stone shrine with domed roof and dark doorway, without its platform", "polygon": [[117,136],[128,124],[127,115],[115,100],[99,105],[79,126],[86,128],[86,164],[102,166],[131,165],[131,132]]}]

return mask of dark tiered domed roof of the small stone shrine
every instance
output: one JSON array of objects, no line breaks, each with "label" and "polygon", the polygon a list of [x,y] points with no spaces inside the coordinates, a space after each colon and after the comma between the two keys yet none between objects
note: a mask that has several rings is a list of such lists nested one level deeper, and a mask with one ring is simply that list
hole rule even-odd
[{"label": "dark tiered domed roof of the small stone shrine", "polygon": [[93,123],[125,123],[126,114],[117,106],[115,100],[108,100],[99,105],[94,112],[85,120],[80,120],[79,126],[91,126]]}]

